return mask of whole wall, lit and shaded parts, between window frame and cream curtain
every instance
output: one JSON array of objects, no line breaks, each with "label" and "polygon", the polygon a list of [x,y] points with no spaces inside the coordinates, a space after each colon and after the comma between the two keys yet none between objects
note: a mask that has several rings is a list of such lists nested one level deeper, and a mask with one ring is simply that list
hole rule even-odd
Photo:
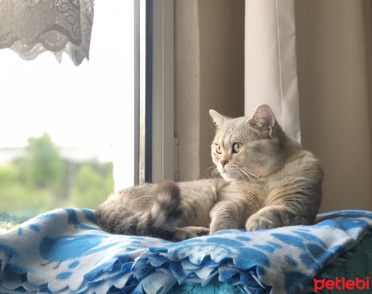
[{"label": "whole wall, lit and shaded parts, between window frame and cream curtain", "polygon": [[213,165],[209,110],[244,115],[244,0],[175,0],[174,24],[175,134],[180,179],[191,180]]}]

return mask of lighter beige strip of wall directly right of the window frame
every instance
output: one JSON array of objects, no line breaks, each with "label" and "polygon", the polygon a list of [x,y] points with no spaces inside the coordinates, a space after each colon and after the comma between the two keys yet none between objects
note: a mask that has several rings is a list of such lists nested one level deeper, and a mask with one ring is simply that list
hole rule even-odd
[{"label": "lighter beige strip of wall directly right of the window frame", "polygon": [[174,1],[174,134],[180,180],[199,178],[200,49],[197,0]]}]

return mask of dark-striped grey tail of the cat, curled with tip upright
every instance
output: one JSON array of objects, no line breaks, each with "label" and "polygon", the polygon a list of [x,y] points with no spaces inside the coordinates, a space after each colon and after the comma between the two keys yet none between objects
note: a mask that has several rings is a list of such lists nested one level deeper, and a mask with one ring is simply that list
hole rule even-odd
[{"label": "dark-striped grey tail of the cat, curled with tip upright", "polygon": [[164,181],[158,185],[155,195],[155,203],[148,211],[118,209],[121,205],[115,198],[106,205],[104,202],[95,211],[98,225],[114,234],[172,240],[182,214],[180,188],[174,181]]}]

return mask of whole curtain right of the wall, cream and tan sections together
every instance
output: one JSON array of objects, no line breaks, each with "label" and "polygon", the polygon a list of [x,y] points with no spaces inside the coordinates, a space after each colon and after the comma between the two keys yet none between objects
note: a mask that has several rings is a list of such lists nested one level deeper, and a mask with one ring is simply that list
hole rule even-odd
[{"label": "whole curtain right of the wall, cream and tan sections together", "polygon": [[371,15],[371,0],[245,1],[245,114],[269,104],[319,158],[320,211],[372,210]]}]

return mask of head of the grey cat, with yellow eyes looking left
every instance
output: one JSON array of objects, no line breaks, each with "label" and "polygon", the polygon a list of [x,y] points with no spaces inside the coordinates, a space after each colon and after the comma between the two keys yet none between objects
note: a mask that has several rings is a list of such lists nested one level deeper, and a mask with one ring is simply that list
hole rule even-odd
[{"label": "head of the grey cat, with yellow eyes looking left", "polygon": [[210,110],[216,133],[211,146],[213,163],[223,178],[265,177],[283,162],[285,135],[266,104],[257,106],[250,118],[231,119]]}]

